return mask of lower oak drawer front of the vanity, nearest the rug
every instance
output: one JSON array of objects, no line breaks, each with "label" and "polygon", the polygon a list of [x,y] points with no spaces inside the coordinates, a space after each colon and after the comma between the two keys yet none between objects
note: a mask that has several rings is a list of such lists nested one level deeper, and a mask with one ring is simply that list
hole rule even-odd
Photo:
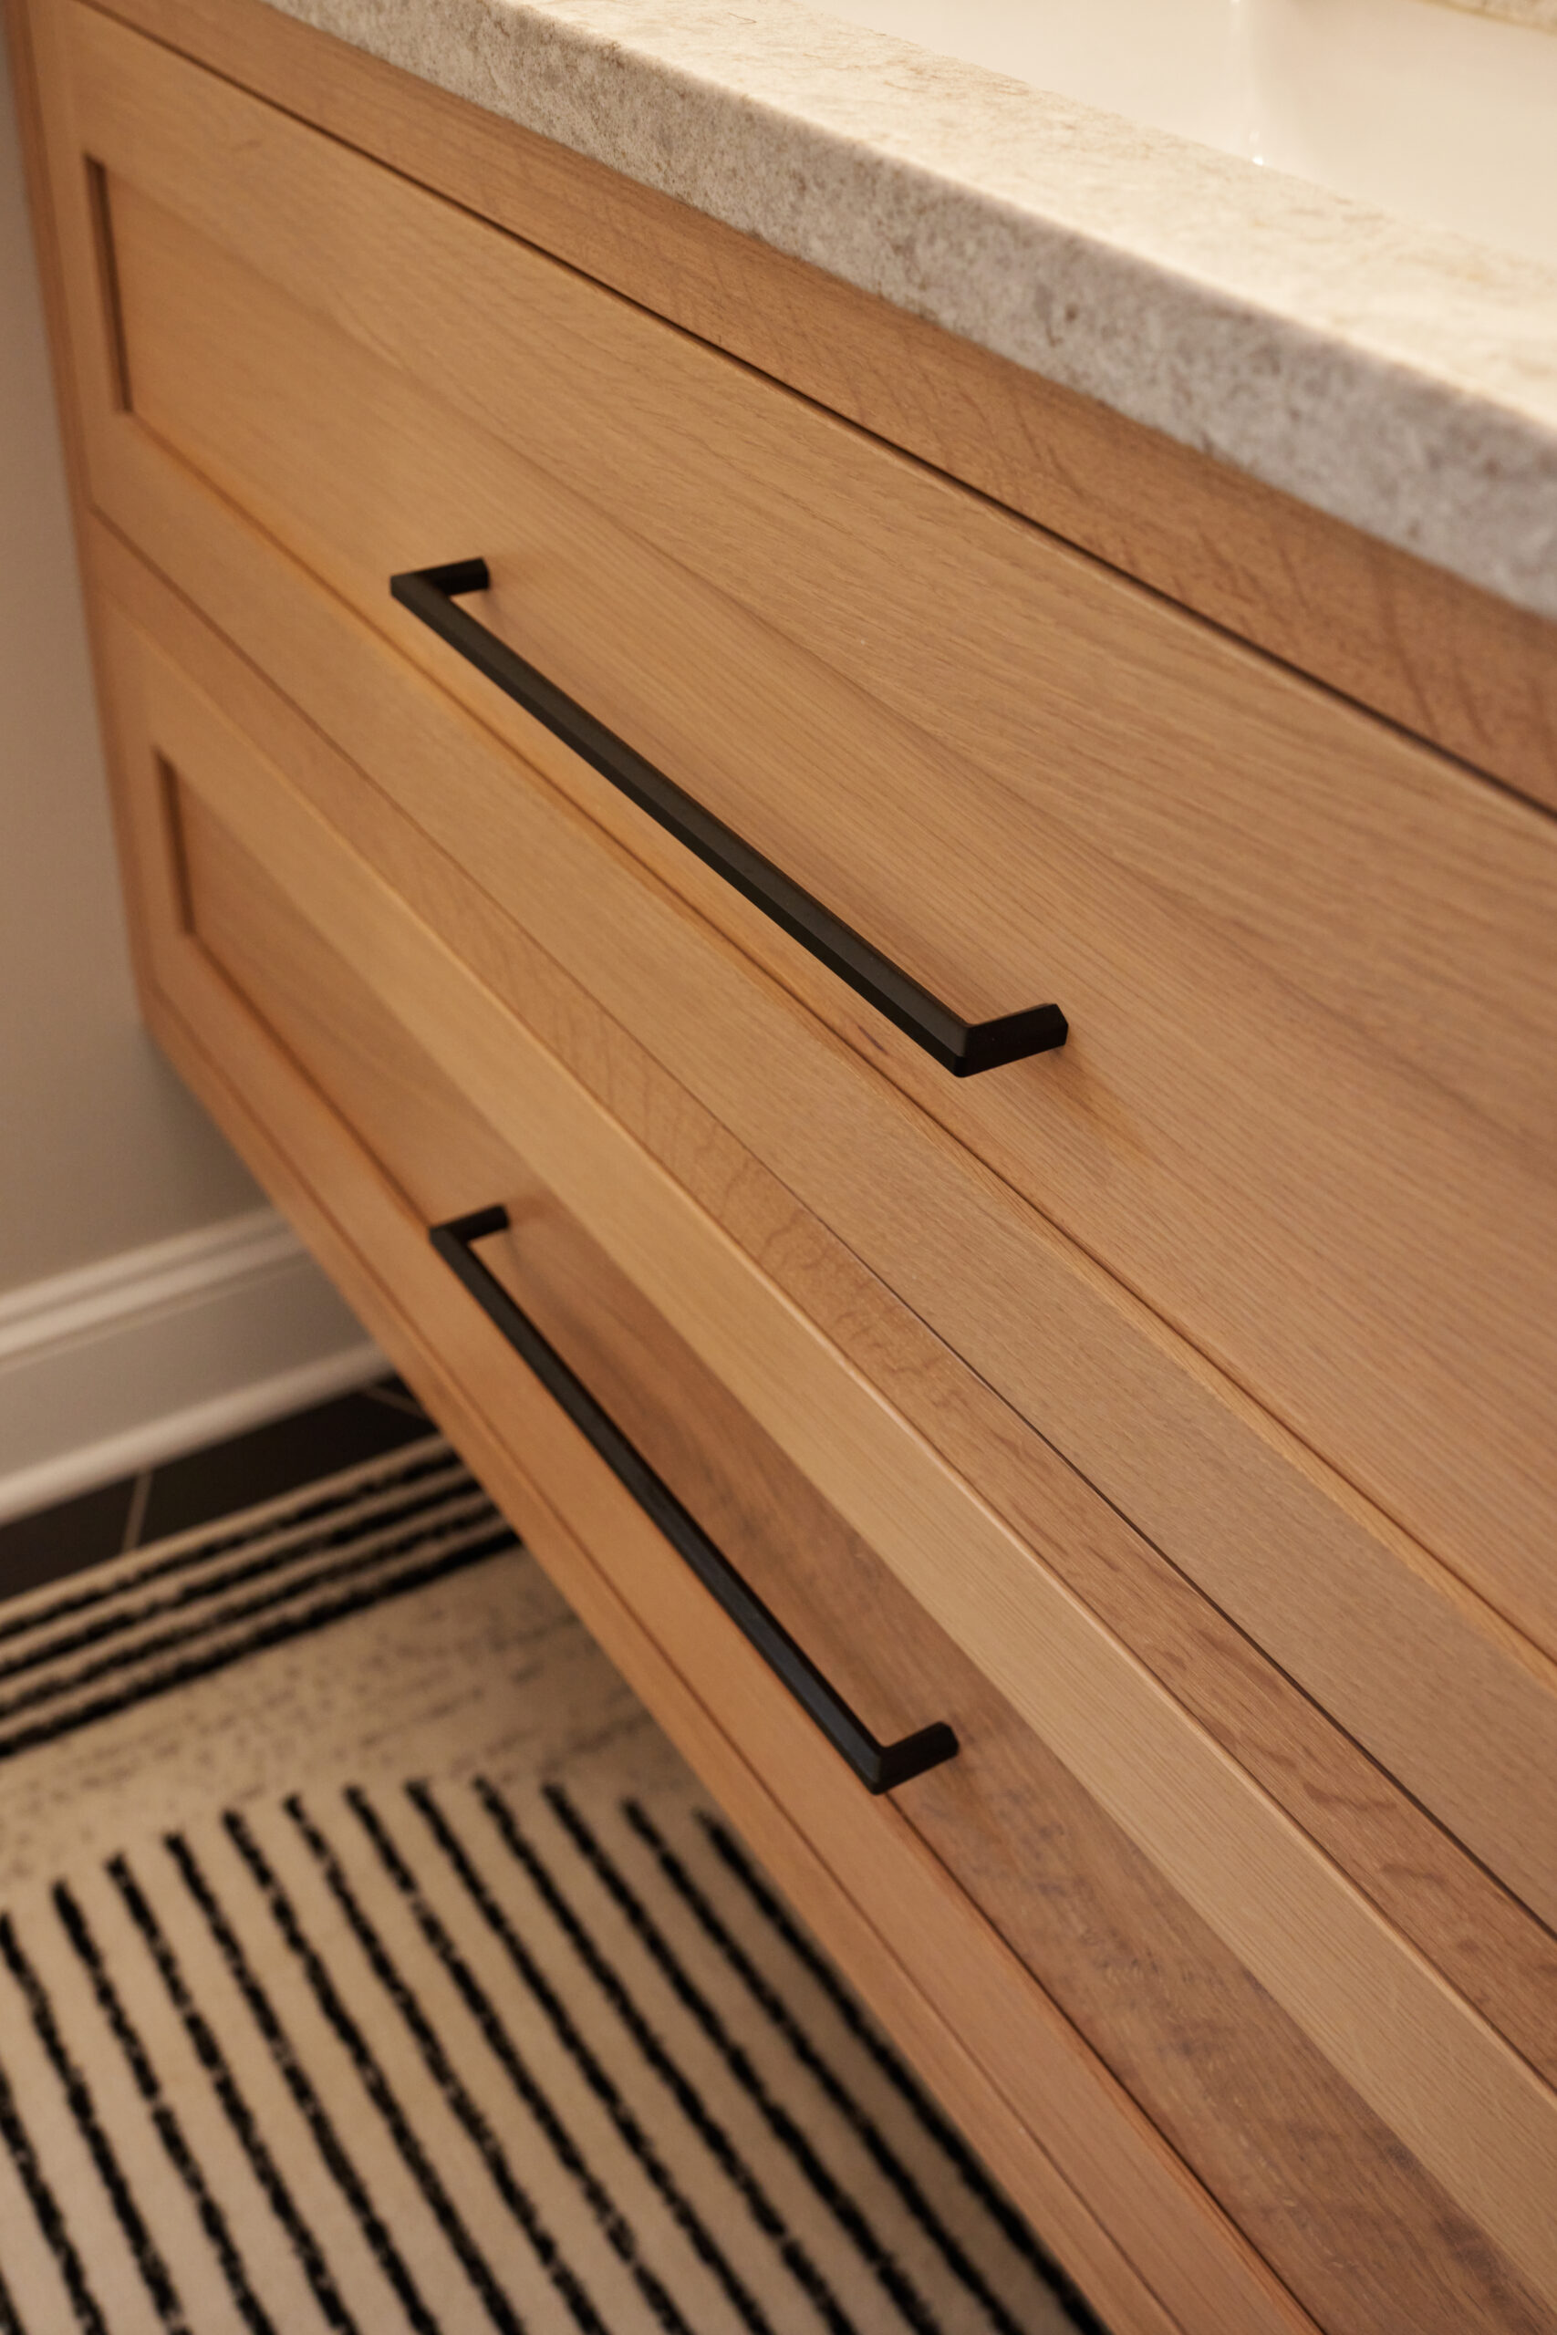
[{"label": "lower oak drawer front of the vanity, nearest the rug", "polygon": [[[857,1982],[950,2050],[1118,2328],[1557,2328],[1552,2094],[203,689],[112,630],[163,1032],[735,1817],[798,1840],[808,1912],[843,1901]],[[866,1726],[945,1721],[952,1761],[873,1803],[796,1716],[427,1245],[497,1203],[483,1254],[567,1368]]]}]

